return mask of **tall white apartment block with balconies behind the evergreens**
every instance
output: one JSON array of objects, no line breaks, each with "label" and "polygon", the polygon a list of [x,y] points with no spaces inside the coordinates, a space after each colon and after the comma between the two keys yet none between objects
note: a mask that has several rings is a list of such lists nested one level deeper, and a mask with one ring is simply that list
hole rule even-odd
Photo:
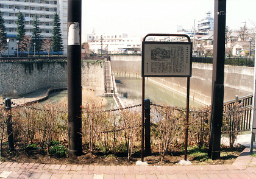
[{"label": "tall white apartment block with balconies behind the evergreens", "polygon": [[16,19],[19,11],[24,15],[26,35],[29,36],[32,35],[34,17],[37,14],[43,37],[52,36],[54,13],[57,12],[62,23],[64,54],[66,54],[68,0],[1,0],[0,10],[4,18],[7,38],[9,39],[9,50],[4,52],[5,55],[14,55],[17,52]]}]

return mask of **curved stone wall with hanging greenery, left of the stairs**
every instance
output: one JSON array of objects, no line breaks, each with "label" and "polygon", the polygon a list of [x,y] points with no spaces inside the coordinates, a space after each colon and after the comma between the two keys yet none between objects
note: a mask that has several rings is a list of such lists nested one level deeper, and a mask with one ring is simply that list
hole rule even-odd
[{"label": "curved stone wall with hanging greenery, left of the stairs", "polygon": [[[66,62],[0,63],[0,96],[27,94],[42,88],[67,86]],[[103,93],[102,61],[82,61],[82,86]]]}]

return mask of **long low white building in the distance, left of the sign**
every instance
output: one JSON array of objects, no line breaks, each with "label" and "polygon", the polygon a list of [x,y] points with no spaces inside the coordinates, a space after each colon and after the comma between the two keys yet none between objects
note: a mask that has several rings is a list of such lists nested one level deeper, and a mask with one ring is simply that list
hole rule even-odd
[{"label": "long low white building in the distance, left of the sign", "polygon": [[141,53],[141,37],[128,37],[126,33],[123,34],[96,34],[92,32],[87,34],[87,42],[90,49],[96,53],[101,54],[140,54]]}]

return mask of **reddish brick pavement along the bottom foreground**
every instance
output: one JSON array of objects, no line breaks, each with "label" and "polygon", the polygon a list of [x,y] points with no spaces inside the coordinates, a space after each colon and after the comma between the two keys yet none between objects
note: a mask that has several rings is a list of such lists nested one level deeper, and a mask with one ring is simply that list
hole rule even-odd
[{"label": "reddish brick pavement along the bottom foreground", "polygon": [[0,162],[0,178],[256,178],[256,157],[244,149],[231,165],[93,166]]}]

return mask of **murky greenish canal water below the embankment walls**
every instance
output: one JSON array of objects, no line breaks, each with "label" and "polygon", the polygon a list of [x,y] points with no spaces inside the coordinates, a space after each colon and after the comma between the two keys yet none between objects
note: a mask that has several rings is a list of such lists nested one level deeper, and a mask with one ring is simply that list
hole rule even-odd
[{"label": "murky greenish canal water below the embankment walls", "polygon": [[[115,76],[116,88],[124,104],[141,104],[141,78]],[[67,96],[67,91],[58,91],[52,93],[48,101],[59,102]],[[186,107],[186,96],[175,91],[169,90],[163,86],[157,85],[145,79],[145,98],[155,104],[167,104],[170,106]],[[106,97],[108,101],[107,109],[115,108],[115,102],[112,97]],[[203,104],[190,99],[190,106],[199,107]]]}]

